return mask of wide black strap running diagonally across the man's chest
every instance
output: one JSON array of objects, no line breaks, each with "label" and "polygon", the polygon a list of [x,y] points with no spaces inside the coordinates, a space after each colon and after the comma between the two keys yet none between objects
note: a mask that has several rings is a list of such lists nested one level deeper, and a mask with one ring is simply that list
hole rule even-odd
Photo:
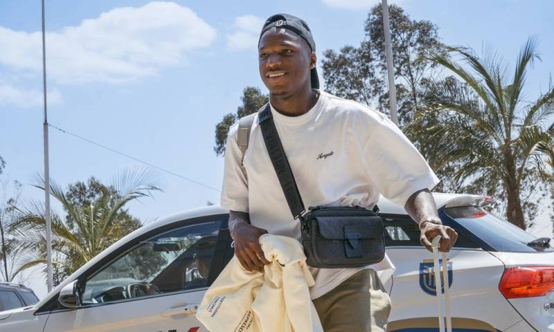
[{"label": "wide black strap running diagonally across the man's chest", "polygon": [[262,136],[264,137],[265,147],[271,163],[277,173],[279,183],[285,194],[285,199],[289,204],[290,212],[294,216],[294,219],[298,219],[305,212],[304,203],[300,192],[298,192],[298,185],[294,180],[292,169],[290,169],[289,161],[285,155],[285,150],[281,144],[279,133],[275,127],[273,115],[269,108],[269,102],[265,105],[262,111],[258,113],[258,122],[262,129]]}]

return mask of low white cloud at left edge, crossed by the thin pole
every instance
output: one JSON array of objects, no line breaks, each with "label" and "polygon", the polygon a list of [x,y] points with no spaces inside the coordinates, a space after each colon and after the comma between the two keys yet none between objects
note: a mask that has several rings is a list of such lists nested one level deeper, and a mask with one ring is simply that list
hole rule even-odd
[{"label": "low white cloud at left edge, crossed by the thin pole", "polygon": [[[21,108],[39,107],[44,104],[42,90],[26,90],[0,82],[0,107],[15,106]],[[48,106],[60,104],[62,93],[58,89],[48,89]]]}]

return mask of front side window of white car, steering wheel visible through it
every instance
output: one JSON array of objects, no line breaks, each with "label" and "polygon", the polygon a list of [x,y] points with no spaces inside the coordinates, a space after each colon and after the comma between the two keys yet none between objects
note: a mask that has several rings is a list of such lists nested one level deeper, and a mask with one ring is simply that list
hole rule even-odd
[{"label": "front side window of white car, steering wheel visible through it", "polygon": [[87,279],[83,304],[206,287],[220,223],[188,225],[141,241]]}]

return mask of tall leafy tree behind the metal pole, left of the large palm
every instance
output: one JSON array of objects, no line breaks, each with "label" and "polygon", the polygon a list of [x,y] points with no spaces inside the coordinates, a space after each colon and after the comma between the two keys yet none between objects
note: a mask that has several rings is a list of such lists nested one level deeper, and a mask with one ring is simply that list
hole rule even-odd
[{"label": "tall leafy tree behind the metal pole, left of the large palm", "polygon": [[[433,62],[427,59],[443,45],[437,27],[430,21],[415,21],[402,8],[388,6],[391,20],[391,43],[394,57],[398,116],[408,123],[413,111],[421,107],[422,80],[429,75]],[[366,20],[366,35],[359,47],[344,46],[340,53],[323,53],[325,89],[343,98],[378,107],[388,113],[386,55],[381,5],[374,6]]]}]

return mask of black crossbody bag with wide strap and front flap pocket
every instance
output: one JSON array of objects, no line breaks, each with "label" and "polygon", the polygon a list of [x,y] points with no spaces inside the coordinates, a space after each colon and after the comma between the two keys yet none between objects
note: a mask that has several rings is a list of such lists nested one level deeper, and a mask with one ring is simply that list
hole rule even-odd
[{"label": "black crossbody bag with wide strap and front flap pocket", "polygon": [[[310,207],[304,203],[283,150],[269,103],[258,121],[265,147],[294,219],[301,223],[306,263],[314,268],[355,268],[382,261],[384,226],[378,210],[362,207]],[[377,206],[375,207],[377,208]]]}]

